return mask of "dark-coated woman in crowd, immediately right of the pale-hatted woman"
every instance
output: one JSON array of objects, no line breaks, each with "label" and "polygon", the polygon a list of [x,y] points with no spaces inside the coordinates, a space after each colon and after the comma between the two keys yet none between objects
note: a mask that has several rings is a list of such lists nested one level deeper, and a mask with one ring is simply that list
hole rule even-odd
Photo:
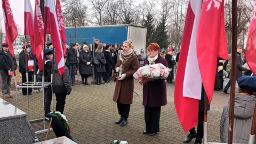
[{"label": "dark-coated woman in crowd, immediately right of the pale-hatted woman", "polygon": [[96,66],[96,79],[97,79],[97,84],[101,85],[104,83],[101,83],[101,76],[103,73],[105,73],[105,65],[106,65],[106,59],[104,56],[104,53],[102,52],[103,46],[99,45],[97,49],[95,50],[95,57],[97,60],[100,62],[99,66]]}]

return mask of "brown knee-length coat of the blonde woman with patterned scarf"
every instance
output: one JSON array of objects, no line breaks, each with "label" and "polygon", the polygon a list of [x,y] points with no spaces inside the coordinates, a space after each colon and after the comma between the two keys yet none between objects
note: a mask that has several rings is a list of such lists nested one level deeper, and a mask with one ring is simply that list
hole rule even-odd
[{"label": "brown knee-length coat of the blonde woman with patterned scarf", "polygon": [[[118,60],[115,68],[120,67],[121,64],[122,61]],[[122,81],[118,81],[118,78],[116,79],[113,101],[123,104],[132,104],[134,89],[133,74],[139,68],[139,61],[136,55],[132,55],[132,57],[124,64],[123,68],[123,74],[126,74],[126,77]]]}]

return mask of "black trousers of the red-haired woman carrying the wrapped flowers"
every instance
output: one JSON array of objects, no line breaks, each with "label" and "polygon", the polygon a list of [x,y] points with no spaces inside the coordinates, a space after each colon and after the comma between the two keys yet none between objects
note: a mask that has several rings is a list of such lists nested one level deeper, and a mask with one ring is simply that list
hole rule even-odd
[{"label": "black trousers of the red-haired woman carrying the wrapped flowers", "polygon": [[145,107],[146,131],[150,131],[150,133],[159,132],[160,115],[161,107]]}]

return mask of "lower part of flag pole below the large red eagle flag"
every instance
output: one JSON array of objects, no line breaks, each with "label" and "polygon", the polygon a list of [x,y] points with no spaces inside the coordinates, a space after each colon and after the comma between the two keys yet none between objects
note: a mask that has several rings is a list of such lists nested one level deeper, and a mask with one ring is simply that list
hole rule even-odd
[{"label": "lower part of flag pole below the large red eagle flag", "polygon": [[208,97],[207,97],[207,94],[204,90],[204,143],[208,142],[207,113],[208,113]]}]

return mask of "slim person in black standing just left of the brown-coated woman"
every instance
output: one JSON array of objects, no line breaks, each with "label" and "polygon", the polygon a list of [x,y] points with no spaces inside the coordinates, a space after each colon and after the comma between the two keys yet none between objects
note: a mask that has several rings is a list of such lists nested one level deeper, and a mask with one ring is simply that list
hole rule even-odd
[{"label": "slim person in black standing just left of the brown-coated woman", "polygon": [[106,59],[106,65],[105,65],[105,68],[106,68],[106,73],[105,73],[105,83],[110,83],[109,79],[110,79],[110,76],[109,76],[109,73],[111,72],[111,67],[114,65],[113,64],[113,59],[111,58],[111,55],[110,55],[110,47],[109,45],[107,45],[105,47],[105,59]]}]

